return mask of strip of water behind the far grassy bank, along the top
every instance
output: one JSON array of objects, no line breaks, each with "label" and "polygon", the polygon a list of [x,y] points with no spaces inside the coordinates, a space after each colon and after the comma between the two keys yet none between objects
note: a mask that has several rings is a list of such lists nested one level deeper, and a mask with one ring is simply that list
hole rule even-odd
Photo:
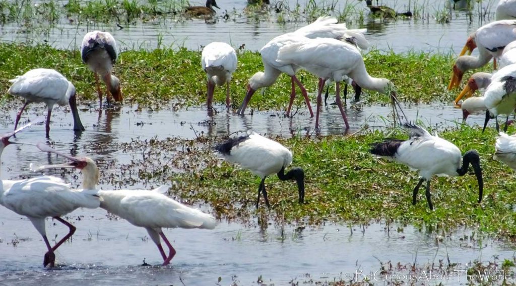
[{"label": "strip of water behind the far grassy bank, along the top", "polygon": [[[196,5],[201,4],[201,2],[203,1],[193,1],[191,3]],[[294,9],[296,3],[304,8],[309,1],[288,0],[286,2],[289,3],[288,6],[291,9]],[[494,8],[498,3],[497,0],[482,1],[481,6],[478,6],[479,4],[476,1],[471,1],[474,5],[477,5],[472,8],[473,14],[471,17],[466,11],[451,11],[451,21],[447,24],[440,24],[435,19],[436,14],[439,11],[446,10],[446,7],[449,7],[449,2],[453,1],[383,0],[379,2],[382,5],[395,8],[399,12],[414,11],[416,6],[424,7],[423,10],[420,10],[420,13],[424,14],[424,20],[383,21],[374,19],[368,16],[369,12],[365,7],[365,1],[341,1],[338,2],[336,9],[343,11],[346,3],[355,5],[354,10],[357,12],[351,16],[351,19],[358,19],[358,11],[363,10],[364,21],[352,23],[349,26],[352,28],[367,28],[367,39],[379,49],[392,48],[396,52],[406,52],[413,49],[447,53],[450,48],[453,48],[456,52],[460,51],[467,35],[486,24],[485,21],[492,21],[494,19]],[[66,3],[63,2],[63,5]],[[259,50],[273,37],[294,31],[306,24],[305,21],[300,23],[291,22],[294,19],[288,16],[283,16],[287,21],[285,24],[278,24],[278,15],[273,11],[266,20],[255,21],[253,16],[247,17],[242,12],[247,5],[245,0],[219,0],[217,3],[221,7],[221,11],[218,13],[219,17],[225,10],[230,12],[234,10],[238,15],[232,15],[229,21],[219,18],[219,21],[213,24],[205,23],[204,19],[176,22],[166,18],[147,23],[122,23],[123,29],[119,29],[115,21],[108,24],[94,22],[71,24],[68,19],[61,19],[55,28],[49,28],[46,25],[40,26],[37,23],[32,28],[26,28],[13,23],[0,27],[0,41],[46,42],[58,48],[78,48],[87,31],[101,29],[114,34],[120,43],[121,50],[154,49],[158,45],[159,35],[163,36],[162,44],[165,46],[185,46],[188,49],[196,50],[201,45],[205,46],[213,41],[225,41],[232,43],[233,46],[245,44],[247,49]],[[272,3],[275,3],[275,1],[272,1]],[[322,4],[319,3],[319,5]],[[479,7],[482,11],[487,12],[486,17],[479,16]],[[301,16],[302,18],[303,16]]]}]

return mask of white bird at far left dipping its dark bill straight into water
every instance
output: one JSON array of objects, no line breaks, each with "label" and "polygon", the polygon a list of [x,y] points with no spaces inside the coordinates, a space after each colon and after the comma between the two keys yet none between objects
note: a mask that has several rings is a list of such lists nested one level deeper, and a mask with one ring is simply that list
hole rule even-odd
[{"label": "white bird at far left dipping its dark bill straight into water", "polygon": [[73,130],[84,131],[83,123],[80,122],[77,111],[77,100],[75,86],[63,75],[54,69],[36,68],[27,71],[24,75],[9,80],[12,83],[7,91],[10,95],[21,96],[25,99],[22,109],[16,116],[14,129],[17,129],[18,122],[23,110],[31,102],[44,102],[48,109],[46,115],[46,136],[50,132],[50,116],[54,104],[65,106],[70,104],[73,117]]}]

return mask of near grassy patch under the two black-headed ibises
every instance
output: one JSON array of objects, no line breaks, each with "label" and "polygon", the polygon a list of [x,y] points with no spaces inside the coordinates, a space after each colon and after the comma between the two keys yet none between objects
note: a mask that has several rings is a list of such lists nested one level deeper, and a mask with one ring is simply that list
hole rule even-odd
[{"label": "near grassy patch under the two black-headed ibises", "polygon": [[141,180],[173,182],[172,193],[187,202],[206,202],[213,206],[218,217],[230,221],[246,222],[257,215],[262,218],[259,222],[275,220],[280,224],[303,220],[316,224],[324,221],[367,224],[384,220],[434,230],[453,230],[465,225],[516,240],[513,211],[516,182],[512,170],[492,159],[494,130],[482,134],[479,128],[461,126],[440,132],[440,137],[454,142],[462,153],[478,150],[485,189],[483,201],[478,205],[478,184],[472,170],[462,177],[434,177],[431,182],[434,211],[428,207],[424,190],[420,191],[417,204],[411,203],[412,190],[418,181],[416,172],[369,154],[371,142],[386,136],[407,138],[403,130],[390,132],[364,131],[348,138],[277,138],[293,151],[292,166],[305,170],[306,203],[297,203],[294,182],[281,182],[271,176],[266,180],[270,211],[263,201],[258,211],[254,208],[260,178],[222,162],[214,154],[212,147],[223,138],[134,141],[123,148],[124,152],[144,150],[145,159],[136,158],[132,163]]}]

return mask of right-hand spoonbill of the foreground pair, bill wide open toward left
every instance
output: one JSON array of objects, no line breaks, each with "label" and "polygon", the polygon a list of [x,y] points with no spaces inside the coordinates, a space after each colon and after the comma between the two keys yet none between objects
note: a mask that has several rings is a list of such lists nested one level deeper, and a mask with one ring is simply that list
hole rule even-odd
[{"label": "right-hand spoonbill of the foreground pair, bill wide open toward left", "polygon": [[[42,165],[36,169],[75,168],[82,172],[85,188],[87,186],[95,188],[98,184],[99,169],[91,158],[73,157],[41,143],[38,143],[37,146],[41,151],[56,153],[71,160],[71,162],[59,165]],[[147,230],[163,257],[163,266],[169,264],[176,253],[163,233],[163,227],[213,229],[216,225],[213,216],[199,209],[187,207],[164,195],[162,192],[167,189],[168,187],[162,186],[154,190],[100,190],[98,192],[102,198],[101,208]],[[160,237],[169,248],[168,255],[165,254]]]}]

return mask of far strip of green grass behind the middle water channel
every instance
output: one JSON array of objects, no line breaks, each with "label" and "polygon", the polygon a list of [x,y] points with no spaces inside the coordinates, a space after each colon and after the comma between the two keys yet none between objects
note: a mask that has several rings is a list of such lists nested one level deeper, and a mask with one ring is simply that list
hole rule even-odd
[{"label": "far strip of green grass behind the middle water channel", "polygon": [[[450,55],[410,52],[399,55],[394,52],[372,50],[364,55],[369,74],[385,77],[394,82],[400,101],[450,102],[457,92],[446,91],[453,66]],[[201,52],[186,49],[173,50],[158,47],[152,51],[129,50],[120,54],[114,74],[122,81],[125,103],[157,105],[174,102],[178,107],[203,104],[206,99],[206,77],[201,69]],[[80,59],[78,50],[57,50],[50,46],[0,44],[0,85],[7,91],[8,79],[37,67],[55,68],[71,80],[83,101],[94,100],[96,90],[91,71]],[[248,79],[263,71],[260,54],[247,50],[238,51],[238,67],[231,83],[233,108],[238,108],[244,98]],[[467,75],[465,75],[467,77]],[[305,71],[298,78],[315,101],[317,79]],[[387,103],[389,98],[375,92],[367,92],[363,99],[369,103]],[[267,88],[265,93],[254,95],[250,109],[285,110],[290,94],[290,82],[286,75]],[[223,102],[225,89],[216,88],[215,102]],[[302,107],[302,97],[296,101]]]}]

